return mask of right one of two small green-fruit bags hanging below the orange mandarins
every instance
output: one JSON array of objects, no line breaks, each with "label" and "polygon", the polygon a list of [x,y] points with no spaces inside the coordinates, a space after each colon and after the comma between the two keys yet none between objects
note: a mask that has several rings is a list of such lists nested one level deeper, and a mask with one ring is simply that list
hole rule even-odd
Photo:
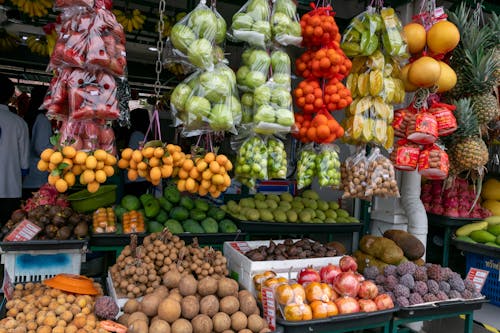
[{"label": "right one of two small green-fruit bags hanging below the orange mandarins", "polygon": [[316,156],[318,183],[322,187],[338,188],[340,185],[339,148],[335,145],[321,145]]}]

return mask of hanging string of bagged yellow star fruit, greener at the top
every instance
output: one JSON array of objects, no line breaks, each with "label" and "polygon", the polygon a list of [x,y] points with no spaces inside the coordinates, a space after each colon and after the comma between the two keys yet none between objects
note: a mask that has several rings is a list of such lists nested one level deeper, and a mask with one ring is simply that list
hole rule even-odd
[{"label": "hanging string of bagged yellow star fruit, greener at the top", "polygon": [[402,103],[405,97],[399,79],[400,62],[407,57],[402,31],[394,9],[377,12],[369,7],[351,21],[344,34],[341,47],[353,57],[347,78],[354,99],[344,123],[347,142],[392,147],[392,105]]}]

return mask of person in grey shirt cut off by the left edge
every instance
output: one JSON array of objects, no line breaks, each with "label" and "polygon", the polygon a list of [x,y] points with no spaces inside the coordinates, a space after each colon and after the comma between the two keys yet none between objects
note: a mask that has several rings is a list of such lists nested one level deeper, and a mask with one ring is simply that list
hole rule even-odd
[{"label": "person in grey shirt cut off by the left edge", "polygon": [[0,224],[19,208],[29,167],[28,125],[8,107],[14,90],[14,83],[0,75]]}]

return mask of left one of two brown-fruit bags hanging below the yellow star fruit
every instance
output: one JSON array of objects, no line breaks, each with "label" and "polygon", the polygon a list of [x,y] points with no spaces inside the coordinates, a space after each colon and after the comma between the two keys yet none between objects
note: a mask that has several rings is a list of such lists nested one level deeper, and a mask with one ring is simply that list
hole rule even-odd
[{"label": "left one of two brown-fruit bags hanging below the yellow star fruit", "polygon": [[344,190],[342,198],[368,199],[366,197],[368,160],[364,149],[360,149],[356,155],[345,160],[341,166],[341,175]]}]

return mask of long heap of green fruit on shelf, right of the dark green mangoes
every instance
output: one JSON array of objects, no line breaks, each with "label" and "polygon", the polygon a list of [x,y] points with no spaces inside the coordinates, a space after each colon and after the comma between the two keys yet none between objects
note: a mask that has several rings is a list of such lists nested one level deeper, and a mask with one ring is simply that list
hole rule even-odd
[{"label": "long heap of green fruit on shelf, right of the dark green mangoes", "polygon": [[257,193],[253,198],[239,202],[228,201],[221,207],[242,221],[290,222],[290,223],[350,223],[359,222],[341,209],[334,201],[320,200],[318,193],[306,190],[300,196],[290,193]]}]

